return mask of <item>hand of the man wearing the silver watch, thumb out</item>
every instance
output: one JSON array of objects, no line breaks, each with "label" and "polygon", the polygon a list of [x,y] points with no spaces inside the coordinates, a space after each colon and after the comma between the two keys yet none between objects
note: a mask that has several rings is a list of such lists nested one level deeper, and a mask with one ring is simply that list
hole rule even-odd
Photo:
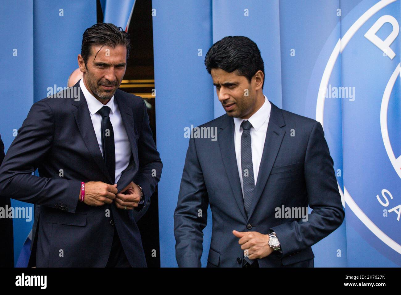
[{"label": "hand of the man wearing the silver watch, thumb out", "polygon": [[238,243],[242,250],[248,249],[248,258],[253,260],[269,256],[274,250],[268,244],[269,235],[260,232],[237,232],[233,230],[234,236],[239,238]]}]

